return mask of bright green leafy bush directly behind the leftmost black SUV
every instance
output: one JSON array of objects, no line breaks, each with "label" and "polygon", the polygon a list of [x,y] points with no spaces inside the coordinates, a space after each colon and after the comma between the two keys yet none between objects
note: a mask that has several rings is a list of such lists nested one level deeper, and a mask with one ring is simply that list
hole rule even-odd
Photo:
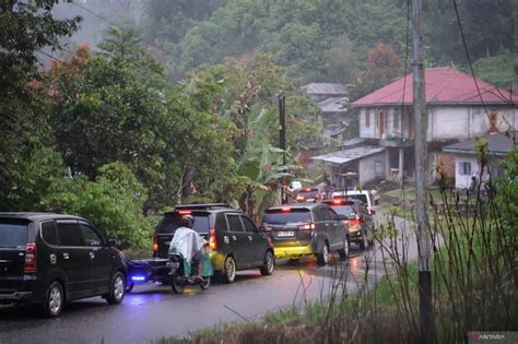
[{"label": "bright green leafy bush directly behind the leftmost black SUV", "polygon": [[54,178],[42,200],[46,211],[84,216],[107,237],[116,237],[120,247],[146,245],[151,233],[142,215],[146,190],[120,162],[99,168],[95,180],[85,176]]}]

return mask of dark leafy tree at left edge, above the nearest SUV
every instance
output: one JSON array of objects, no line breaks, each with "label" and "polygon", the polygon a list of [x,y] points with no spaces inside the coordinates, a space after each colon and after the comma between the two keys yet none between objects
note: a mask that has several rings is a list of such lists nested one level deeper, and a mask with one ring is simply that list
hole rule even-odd
[{"label": "dark leafy tree at left edge, above the nearest SUV", "polygon": [[79,17],[56,20],[55,0],[0,2],[0,210],[35,210],[46,178],[62,175],[39,91],[36,51],[57,48]]}]

